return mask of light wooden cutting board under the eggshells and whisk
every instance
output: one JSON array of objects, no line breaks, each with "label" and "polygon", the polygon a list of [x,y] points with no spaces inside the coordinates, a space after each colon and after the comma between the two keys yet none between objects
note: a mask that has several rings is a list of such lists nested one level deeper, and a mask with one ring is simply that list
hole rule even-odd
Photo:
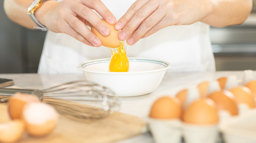
[{"label": "light wooden cutting board under the eggshells and whisk", "polygon": [[[7,104],[0,103],[0,122],[10,120]],[[114,112],[92,123],[77,122],[60,116],[55,130],[45,137],[24,133],[19,143],[111,143],[141,134],[145,123],[138,117]]]}]

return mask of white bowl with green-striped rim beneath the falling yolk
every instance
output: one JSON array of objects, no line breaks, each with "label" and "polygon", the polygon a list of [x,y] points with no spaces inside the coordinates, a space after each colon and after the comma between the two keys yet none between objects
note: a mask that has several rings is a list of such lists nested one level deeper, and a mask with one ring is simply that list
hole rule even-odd
[{"label": "white bowl with green-striped rim beneath the falling yolk", "polygon": [[119,97],[145,95],[154,91],[171,64],[161,60],[129,58],[128,72],[109,72],[110,58],[79,64],[90,83],[110,88]]}]

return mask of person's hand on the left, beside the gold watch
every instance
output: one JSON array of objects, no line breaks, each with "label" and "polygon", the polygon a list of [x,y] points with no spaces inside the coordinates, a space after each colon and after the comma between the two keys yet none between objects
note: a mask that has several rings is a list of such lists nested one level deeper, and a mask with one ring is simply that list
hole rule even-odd
[{"label": "person's hand on the left, beside the gold watch", "polygon": [[66,33],[87,45],[99,47],[101,41],[87,26],[95,27],[103,36],[108,36],[110,29],[92,9],[109,24],[116,23],[115,16],[100,0],[44,1],[35,17],[53,32]]}]

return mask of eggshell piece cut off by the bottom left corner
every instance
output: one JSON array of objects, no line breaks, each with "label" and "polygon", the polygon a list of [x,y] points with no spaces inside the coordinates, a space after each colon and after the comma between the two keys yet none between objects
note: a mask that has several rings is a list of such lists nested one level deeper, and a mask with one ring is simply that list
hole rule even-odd
[{"label": "eggshell piece cut off by the bottom left corner", "polygon": [[24,123],[20,119],[14,119],[0,124],[0,142],[17,142],[25,130]]}]

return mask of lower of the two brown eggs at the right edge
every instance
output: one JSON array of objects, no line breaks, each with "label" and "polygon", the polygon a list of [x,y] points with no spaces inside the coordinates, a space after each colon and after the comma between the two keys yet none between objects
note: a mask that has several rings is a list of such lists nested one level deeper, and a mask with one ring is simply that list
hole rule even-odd
[{"label": "lower of the two brown eggs at the right edge", "polygon": [[247,87],[234,87],[229,89],[235,96],[237,103],[245,103],[250,108],[255,108],[254,96]]}]

